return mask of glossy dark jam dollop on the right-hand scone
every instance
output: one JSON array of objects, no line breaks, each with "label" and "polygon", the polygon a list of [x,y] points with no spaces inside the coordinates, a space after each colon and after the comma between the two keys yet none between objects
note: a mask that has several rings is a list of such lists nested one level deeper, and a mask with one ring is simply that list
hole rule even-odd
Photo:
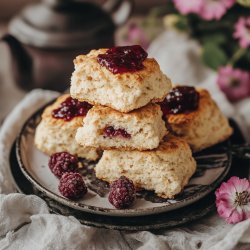
[{"label": "glossy dark jam dollop on the right-hand scone", "polygon": [[199,93],[194,87],[179,86],[173,88],[160,104],[163,115],[180,114],[198,108]]}]

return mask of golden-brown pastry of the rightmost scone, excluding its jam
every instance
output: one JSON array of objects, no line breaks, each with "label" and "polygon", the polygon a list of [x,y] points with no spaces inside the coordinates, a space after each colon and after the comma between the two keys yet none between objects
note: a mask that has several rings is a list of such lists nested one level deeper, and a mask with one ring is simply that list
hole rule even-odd
[{"label": "golden-brown pastry of the rightmost scone, excluding its jam", "polygon": [[185,139],[194,152],[226,140],[233,131],[209,92],[199,88],[196,91],[199,100],[195,110],[166,115],[170,130]]}]

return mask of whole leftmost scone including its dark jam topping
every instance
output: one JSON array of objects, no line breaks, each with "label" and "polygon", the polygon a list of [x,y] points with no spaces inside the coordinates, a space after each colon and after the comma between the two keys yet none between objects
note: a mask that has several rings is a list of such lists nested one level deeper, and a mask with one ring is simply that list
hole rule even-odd
[{"label": "whole leftmost scone including its dark jam topping", "polygon": [[92,105],[65,94],[49,105],[42,114],[35,133],[35,145],[45,154],[68,152],[88,160],[97,160],[99,151],[89,147],[79,147],[75,141],[76,131]]}]

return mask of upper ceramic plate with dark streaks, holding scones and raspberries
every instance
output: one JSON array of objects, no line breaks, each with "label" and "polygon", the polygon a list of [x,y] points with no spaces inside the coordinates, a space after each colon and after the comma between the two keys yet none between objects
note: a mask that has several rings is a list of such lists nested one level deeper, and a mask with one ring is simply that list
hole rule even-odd
[{"label": "upper ceramic plate with dark streaks, holding scones and raspberries", "polygon": [[26,178],[46,196],[79,211],[109,216],[139,216],[172,211],[192,204],[213,191],[228,173],[231,153],[227,150],[229,141],[218,144],[195,155],[197,171],[189,184],[175,199],[162,199],[153,192],[140,191],[134,205],[129,209],[114,209],[108,202],[108,184],[96,179],[94,162],[83,160],[82,174],[88,186],[88,193],[79,201],[64,198],[58,191],[59,180],[51,173],[48,156],[34,146],[34,134],[44,108],[33,114],[24,124],[17,138],[16,153],[19,166]]}]

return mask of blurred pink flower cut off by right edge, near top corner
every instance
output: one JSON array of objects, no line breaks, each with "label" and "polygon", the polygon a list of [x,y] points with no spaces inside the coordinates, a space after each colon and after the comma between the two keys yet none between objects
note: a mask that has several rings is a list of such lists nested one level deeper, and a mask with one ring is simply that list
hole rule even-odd
[{"label": "blurred pink flower cut off by right edge, near top corner", "polygon": [[247,48],[250,46],[250,17],[241,17],[234,26],[234,38],[240,40],[240,46]]}]

